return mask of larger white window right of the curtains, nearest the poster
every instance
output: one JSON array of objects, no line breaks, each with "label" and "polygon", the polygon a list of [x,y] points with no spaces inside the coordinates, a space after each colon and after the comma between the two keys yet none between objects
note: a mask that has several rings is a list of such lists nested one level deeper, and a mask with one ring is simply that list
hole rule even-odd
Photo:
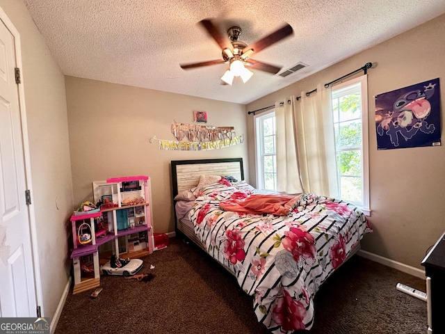
[{"label": "larger white window right of the curtains, nearest the poster", "polygon": [[332,87],[339,197],[369,214],[369,143],[366,75]]}]

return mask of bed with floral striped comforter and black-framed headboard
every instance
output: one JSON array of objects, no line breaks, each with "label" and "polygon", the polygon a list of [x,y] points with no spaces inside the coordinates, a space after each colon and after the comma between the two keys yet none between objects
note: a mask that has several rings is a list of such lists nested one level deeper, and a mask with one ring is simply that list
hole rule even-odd
[{"label": "bed with floral striped comforter and black-framed headboard", "polygon": [[177,232],[232,273],[272,333],[312,328],[319,287],[372,232],[363,212],[315,194],[258,191],[241,158],[175,160],[171,173]]}]

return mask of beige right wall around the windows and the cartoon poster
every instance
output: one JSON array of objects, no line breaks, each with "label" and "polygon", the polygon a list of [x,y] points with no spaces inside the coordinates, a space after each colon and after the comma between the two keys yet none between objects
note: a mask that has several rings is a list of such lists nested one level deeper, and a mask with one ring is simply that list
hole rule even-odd
[{"label": "beige right wall around the windows and the cartoon poster", "polygon": [[[445,15],[383,42],[296,84],[248,104],[248,111],[312,90],[362,67],[369,70],[370,201],[373,234],[362,248],[371,253],[421,269],[421,261],[445,230],[445,148],[377,150],[375,95],[435,79],[442,80],[442,133],[445,100]],[[361,72],[363,74],[363,72]],[[357,74],[359,75],[359,74]],[[248,139],[253,142],[253,117],[248,118]],[[444,138],[442,134],[442,138]],[[445,145],[442,139],[442,145]],[[255,180],[254,151],[250,150],[250,178]]]}]

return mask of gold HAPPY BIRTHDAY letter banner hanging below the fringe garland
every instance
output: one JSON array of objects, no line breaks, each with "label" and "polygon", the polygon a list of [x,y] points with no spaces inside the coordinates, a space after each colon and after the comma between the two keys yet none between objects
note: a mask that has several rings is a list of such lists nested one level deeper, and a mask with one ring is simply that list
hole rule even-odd
[{"label": "gold HAPPY BIRTHDAY letter banner hanging below the fringe garland", "polygon": [[[152,138],[156,139],[156,138]],[[159,150],[176,150],[176,151],[204,151],[204,150],[218,150],[219,148],[228,148],[233,145],[243,143],[244,138],[241,136],[234,136],[232,139],[225,138],[218,141],[159,141]]]}]

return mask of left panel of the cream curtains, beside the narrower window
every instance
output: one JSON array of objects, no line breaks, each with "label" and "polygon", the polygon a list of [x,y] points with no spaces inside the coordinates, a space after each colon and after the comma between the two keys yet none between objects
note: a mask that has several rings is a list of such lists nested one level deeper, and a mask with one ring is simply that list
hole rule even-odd
[{"label": "left panel of the cream curtains, beside the narrower window", "polygon": [[275,104],[277,191],[302,193],[294,129],[296,97]]}]

